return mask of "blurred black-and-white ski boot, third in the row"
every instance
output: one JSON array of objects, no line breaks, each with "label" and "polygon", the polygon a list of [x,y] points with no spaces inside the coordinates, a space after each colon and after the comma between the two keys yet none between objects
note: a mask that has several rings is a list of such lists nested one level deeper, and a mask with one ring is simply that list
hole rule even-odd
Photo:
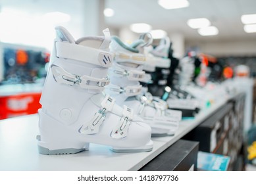
[{"label": "blurred black-and-white ski boot, third in the row", "polygon": [[182,112],[182,118],[194,117],[199,112],[197,100],[186,92],[185,88],[193,78],[195,69],[193,58],[186,57],[178,60],[173,57],[172,43],[165,37],[159,45],[151,50],[154,57],[169,64],[155,65],[155,70],[150,72],[152,83],[148,84],[148,91],[161,100],[166,101],[168,109]]}]

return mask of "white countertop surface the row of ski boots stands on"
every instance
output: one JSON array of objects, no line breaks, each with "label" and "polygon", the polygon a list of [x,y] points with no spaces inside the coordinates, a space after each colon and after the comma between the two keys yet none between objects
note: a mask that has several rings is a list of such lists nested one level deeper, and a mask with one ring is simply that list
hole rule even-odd
[{"label": "white countertop surface the row of ski boots stands on", "polygon": [[0,170],[140,170],[145,164],[198,126],[228,101],[218,101],[193,119],[180,123],[176,135],[153,138],[153,150],[115,153],[109,147],[90,145],[89,151],[68,155],[38,153],[38,114],[0,121]]}]

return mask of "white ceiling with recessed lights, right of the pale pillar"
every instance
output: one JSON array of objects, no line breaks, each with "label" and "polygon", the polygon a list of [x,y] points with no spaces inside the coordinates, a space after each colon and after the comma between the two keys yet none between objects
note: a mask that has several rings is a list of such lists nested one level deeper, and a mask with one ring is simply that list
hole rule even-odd
[{"label": "white ceiling with recessed lights, right of the pale pillar", "polygon": [[[178,1],[178,0],[176,0]],[[256,0],[188,0],[190,7],[166,10],[157,0],[107,0],[106,7],[115,10],[115,16],[106,18],[107,24],[120,27],[145,22],[153,29],[179,32],[186,39],[256,39],[246,34],[240,20],[242,14],[256,13]],[[189,18],[208,18],[219,30],[217,36],[202,37],[186,24]]]}]

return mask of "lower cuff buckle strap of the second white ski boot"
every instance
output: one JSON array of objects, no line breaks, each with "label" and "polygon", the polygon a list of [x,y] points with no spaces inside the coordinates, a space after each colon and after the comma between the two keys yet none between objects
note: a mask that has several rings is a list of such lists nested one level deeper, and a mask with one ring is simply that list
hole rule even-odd
[{"label": "lower cuff buckle strap of the second white ski boot", "polygon": [[132,96],[139,95],[141,93],[142,85],[128,85],[126,87],[120,87],[118,85],[114,85],[110,83],[109,86],[106,88],[106,90],[113,95],[124,93],[126,97],[132,97]]}]

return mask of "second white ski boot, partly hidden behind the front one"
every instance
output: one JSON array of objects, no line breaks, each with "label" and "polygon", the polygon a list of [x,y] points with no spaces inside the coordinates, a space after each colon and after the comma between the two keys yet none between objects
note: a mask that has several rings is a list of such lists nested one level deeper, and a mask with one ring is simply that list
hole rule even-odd
[{"label": "second white ski boot, partly hidden behind the front one", "polygon": [[[134,45],[143,47],[147,44],[140,39]],[[139,49],[122,43],[115,36],[112,37],[111,52],[115,57],[113,66],[109,69],[111,84],[106,88],[106,93],[113,95],[117,104],[134,108],[136,114],[151,126],[152,136],[174,135],[178,129],[181,112],[173,111],[175,113],[168,114],[166,103],[159,101],[160,99],[155,101],[140,85],[140,81],[150,79],[150,75],[143,71],[147,62],[145,55],[141,54]]]}]

